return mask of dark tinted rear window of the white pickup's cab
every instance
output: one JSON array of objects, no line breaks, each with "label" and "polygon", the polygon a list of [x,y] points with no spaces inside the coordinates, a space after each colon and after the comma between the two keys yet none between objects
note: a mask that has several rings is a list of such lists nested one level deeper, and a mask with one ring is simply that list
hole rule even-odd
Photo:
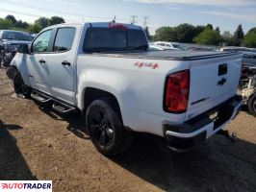
[{"label": "dark tinted rear window of the white pickup's cab", "polygon": [[146,50],[147,39],[142,30],[89,28],[84,43],[85,52]]}]

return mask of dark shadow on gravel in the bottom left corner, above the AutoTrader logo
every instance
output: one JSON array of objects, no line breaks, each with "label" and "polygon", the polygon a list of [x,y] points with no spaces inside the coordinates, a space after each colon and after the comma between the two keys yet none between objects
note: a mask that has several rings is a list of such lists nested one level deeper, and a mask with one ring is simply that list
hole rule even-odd
[{"label": "dark shadow on gravel in the bottom left corner, above the AutoTrader logo", "polygon": [[5,125],[0,120],[0,180],[37,180],[9,132],[20,129],[16,125]]}]

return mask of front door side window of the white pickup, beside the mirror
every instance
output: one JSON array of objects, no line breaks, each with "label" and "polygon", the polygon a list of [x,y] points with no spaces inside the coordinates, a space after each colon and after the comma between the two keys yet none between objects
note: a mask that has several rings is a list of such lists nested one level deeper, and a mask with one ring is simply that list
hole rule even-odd
[{"label": "front door side window of the white pickup, beside the mirror", "polygon": [[32,45],[33,53],[47,52],[52,30],[48,30],[40,34]]}]

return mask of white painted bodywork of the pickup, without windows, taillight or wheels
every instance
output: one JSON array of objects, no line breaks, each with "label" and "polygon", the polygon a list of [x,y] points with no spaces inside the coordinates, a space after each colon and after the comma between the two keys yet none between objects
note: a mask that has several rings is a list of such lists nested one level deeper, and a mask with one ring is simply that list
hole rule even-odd
[{"label": "white painted bodywork of the pickup, without windows, taillight or wheels", "polygon": [[[159,60],[87,54],[83,51],[83,44],[91,25],[108,27],[108,23],[50,27],[48,29],[76,28],[72,49],[59,54],[17,54],[12,65],[21,72],[25,84],[81,110],[87,99],[86,88],[110,92],[118,102],[125,127],[135,132],[150,132],[160,136],[165,134],[165,122],[170,125],[183,124],[236,95],[241,55],[202,60]],[[140,30],[138,26],[126,26]],[[41,59],[46,62],[38,63]],[[68,60],[70,66],[62,65],[63,60]],[[140,67],[136,65],[137,62],[157,63],[158,67]],[[218,81],[222,79],[218,77],[218,65],[221,63],[228,65],[228,73],[223,76],[227,82],[218,86]],[[170,73],[188,69],[191,71],[191,85],[187,112],[175,114],[164,111],[166,77]],[[192,105],[192,102],[202,98],[205,101]]]}]

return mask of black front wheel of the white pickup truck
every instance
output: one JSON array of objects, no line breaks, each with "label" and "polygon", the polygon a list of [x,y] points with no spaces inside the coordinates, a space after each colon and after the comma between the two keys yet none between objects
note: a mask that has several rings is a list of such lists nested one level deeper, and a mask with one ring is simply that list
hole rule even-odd
[{"label": "black front wheel of the white pickup truck", "polygon": [[18,96],[24,96],[25,98],[29,98],[31,95],[31,88],[24,84],[24,81],[18,71],[14,74],[13,77],[13,88],[14,92]]}]

